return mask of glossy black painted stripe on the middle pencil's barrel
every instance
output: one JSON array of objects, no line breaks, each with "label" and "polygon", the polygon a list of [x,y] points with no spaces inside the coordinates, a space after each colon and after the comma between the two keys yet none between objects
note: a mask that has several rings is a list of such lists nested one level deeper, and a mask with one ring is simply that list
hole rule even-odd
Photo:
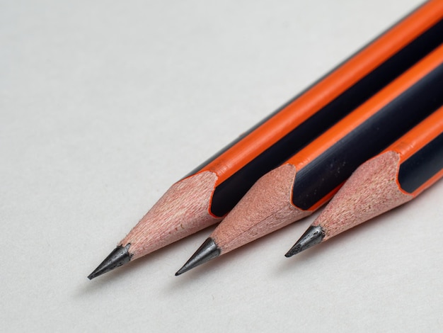
[{"label": "glossy black painted stripe on the middle pencil's barrel", "polygon": [[443,104],[443,64],[352,130],[326,152],[297,170],[292,203],[308,210]]}]

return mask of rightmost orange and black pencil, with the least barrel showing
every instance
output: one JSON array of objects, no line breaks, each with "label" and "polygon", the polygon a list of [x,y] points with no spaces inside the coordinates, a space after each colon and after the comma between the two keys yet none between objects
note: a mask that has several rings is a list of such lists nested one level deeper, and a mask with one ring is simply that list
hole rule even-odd
[{"label": "rightmost orange and black pencil, with the least barrel showing", "polygon": [[442,168],[443,108],[439,108],[359,166],[286,256],[412,200],[443,176]]}]

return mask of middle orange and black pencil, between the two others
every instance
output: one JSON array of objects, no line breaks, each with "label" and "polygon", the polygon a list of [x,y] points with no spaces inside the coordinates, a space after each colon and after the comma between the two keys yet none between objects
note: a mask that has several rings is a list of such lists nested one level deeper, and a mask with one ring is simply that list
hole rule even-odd
[{"label": "middle orange and black pencil, between the two others", "polygon": [[439,108],[442,86],[443,45],[261,177],[176,275],[313,213],[359,164]]}]

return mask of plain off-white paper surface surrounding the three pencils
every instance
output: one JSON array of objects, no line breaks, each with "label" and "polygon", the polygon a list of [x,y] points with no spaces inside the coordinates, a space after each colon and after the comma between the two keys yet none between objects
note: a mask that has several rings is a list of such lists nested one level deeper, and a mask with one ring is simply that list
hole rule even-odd
[{"label": "plain off-white paper surface surrounding the three pencils", "polygon": [[0,330],[441,332],[441,182],[291,259],[313,217],[180,277],[212,229],[86,278],[171,184],[418,4],[0,0]]}]

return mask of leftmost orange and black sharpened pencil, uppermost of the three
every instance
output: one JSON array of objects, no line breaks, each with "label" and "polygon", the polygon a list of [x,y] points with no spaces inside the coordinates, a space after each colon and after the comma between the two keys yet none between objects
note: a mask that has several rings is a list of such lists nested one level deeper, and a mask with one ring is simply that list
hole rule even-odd
[{"label": "leftmost orange and black sharpened pencil, uppermost of the three", "polygon": [[421,6],[173,184],[88,278],[100,276],[222,220],[260,176],[442,43],[442,18],[442,1]]}]

